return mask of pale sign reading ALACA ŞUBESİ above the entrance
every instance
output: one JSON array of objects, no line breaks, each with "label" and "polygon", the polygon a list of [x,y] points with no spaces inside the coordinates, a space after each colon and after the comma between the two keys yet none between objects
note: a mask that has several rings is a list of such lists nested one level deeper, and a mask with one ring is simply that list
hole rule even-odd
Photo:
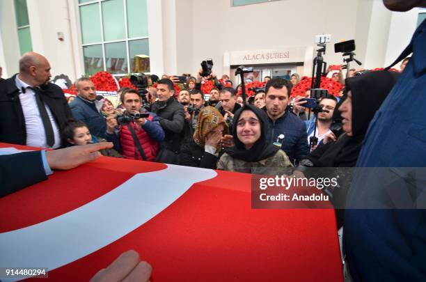
[{"label": "pale sign reading ALACA \u015eUBES\u0130 above the entrance", "polygon": [[230,52],[231,65],[303,62],[306,48]]}]

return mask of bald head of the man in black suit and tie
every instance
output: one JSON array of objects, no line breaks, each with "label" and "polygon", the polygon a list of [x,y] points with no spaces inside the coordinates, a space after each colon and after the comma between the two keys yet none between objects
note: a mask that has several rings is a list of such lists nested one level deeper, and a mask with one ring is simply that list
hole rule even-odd
[{"label": "bald head of the man in black suit and tie", "polygon": [[32,86],[47,84],[51,77],[49,61],[36,52],[27,52],[19,59],[19,76]]}]

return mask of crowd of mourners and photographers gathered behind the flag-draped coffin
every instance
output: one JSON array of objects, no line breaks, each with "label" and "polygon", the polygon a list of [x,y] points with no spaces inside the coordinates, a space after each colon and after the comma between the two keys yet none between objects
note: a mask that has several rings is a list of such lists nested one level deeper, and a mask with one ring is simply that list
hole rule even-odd
[{"label": "crowd of mourners and photographers gathered behind the flag-draped coffin", "polygon": [[[369,92],[374,100],[384,88],[386,97],[394,83],[388,76],[399,75],[349,70],[345,94],[323,95],[317,101],[321,111],[311,113],[306,105],[309,91],[306,97],[290,95],[300,82],[297,73],[289,80],[265,77],[265,88],[246,100],[228,75],[217,79],[214,72],[205,77],[202,73],[184,75],[183,88],[175,87],[182,83],[178,76],[146,76],[146,88],[121,88],[120,104],[114,107],[97,95],[89,77],[77,79],[77,96],[65,100],[61,89],[49,83],[47,58],[29,52],[19,61],[19,74],[1,83],[0,91],[6,94],[2,97],[10,98],[10,103],[1,104],[1,115],[8,119],[1,119],[0,141],[54,149],[109,141],[113,148],[102,150],[102,155],[246,173],[257,167],[324,166],[321,160],[331,148],[333,162],[324,163],[354,166],[362,136],[381,102],[374,107],[363,102],[360,107],[352,106],[352,101]],[[342,68],[332,77],[341,80]],[[376,79],[384,82],[383,88]],[[205,99],[201,85],[208,80],[214,87]],[[369,84],[371,80],[374,83]],[[363,93],[358,94],[360,85]],[[366,104],[372,110],[369,118]],[[342,120],[340,132],[331,129],[334,120]],[[364,132],[356,132],[354,138],[353,124],[361,122]],[[347,143],[358,148],[350,158],[345,155]]]}]

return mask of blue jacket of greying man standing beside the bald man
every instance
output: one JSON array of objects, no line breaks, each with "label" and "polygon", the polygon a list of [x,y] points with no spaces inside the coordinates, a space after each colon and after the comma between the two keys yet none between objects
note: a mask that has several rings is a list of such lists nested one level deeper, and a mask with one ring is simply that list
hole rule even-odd
[{"label": "blue jacket of greying man standing beside the bald man", "polygon": [[90,134],[105,138],[105,131],[107,130],[107,121],[102,113],[97,111],[95,104],[87,102],[77,96],[70,103],[72,116],[76,120],[81,120],[86,123]]}]

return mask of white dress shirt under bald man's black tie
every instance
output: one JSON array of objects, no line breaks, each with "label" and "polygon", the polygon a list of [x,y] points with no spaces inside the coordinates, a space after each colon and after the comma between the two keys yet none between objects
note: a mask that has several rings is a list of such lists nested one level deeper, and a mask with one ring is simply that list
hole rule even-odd
[{"label": "white dress shirt under bald man's black tie", "polygon": [[[19,89],[19,101],[21,102],[22,112],[24,113],[26,146],[49,148],[47,145],[45,127],[43,126],[40,111],[37,107],[36,93],[34,93],[32,89],[27,88],[31,85],[26,84],[24,81],[19,79],[19,75],[16,76],[15,85]],[[22,87],[26,88],[25,93],[22,93]],[[61,134],[59,133],[59,127],[52,115],[52,111],[50,111],[49,107],[47,107],[47,104],[45,104],[45,107],[54,131],[55,143],[52,148],[59,148],[61,146]]]}]

